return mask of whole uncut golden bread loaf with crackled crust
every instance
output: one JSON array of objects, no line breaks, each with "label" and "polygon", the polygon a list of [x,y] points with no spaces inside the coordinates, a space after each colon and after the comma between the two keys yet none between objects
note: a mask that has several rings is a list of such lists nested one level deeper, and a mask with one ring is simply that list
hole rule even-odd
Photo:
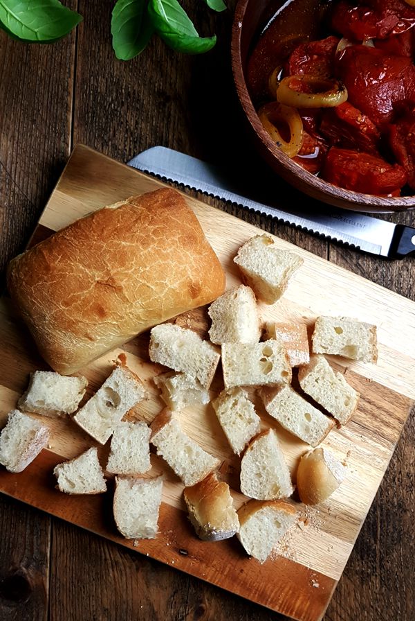
[{"label": "whole uncut golden bread loaf with crackled crust", "polygon": [[224,288],[196,216],[169,188],[80,218],[8,267],[40,353],[66,375]]}]

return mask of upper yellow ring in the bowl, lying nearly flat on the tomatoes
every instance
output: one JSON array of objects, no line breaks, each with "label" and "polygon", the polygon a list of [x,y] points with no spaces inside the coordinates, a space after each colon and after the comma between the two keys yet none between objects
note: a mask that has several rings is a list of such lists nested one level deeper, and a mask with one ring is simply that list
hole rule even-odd
[{"label": "upper yellow ring in the bowl, lying nearly flat on the tomatoes", "polygon": [[[293,86],[304,85],[305,90],[298,91]],[[315,92],[317,90],[317,92]],[[295,108],[331,108],[347,100],[347,88],[339,80],[317,78],[306,74],[288,76],[279,82],[277,101]]]}]

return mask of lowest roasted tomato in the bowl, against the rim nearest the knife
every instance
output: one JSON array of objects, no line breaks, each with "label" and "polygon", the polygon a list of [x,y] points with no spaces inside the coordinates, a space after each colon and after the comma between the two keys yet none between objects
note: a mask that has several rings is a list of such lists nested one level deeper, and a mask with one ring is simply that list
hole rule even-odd
[{"label": "lowest roasted tomato in the bowl, against the rim nearest the knife", "polygon": [[388,195],[402,188],[407,174],[402,166],[381,157],[332,147],[322,168],[326,181],[354,192]]}]

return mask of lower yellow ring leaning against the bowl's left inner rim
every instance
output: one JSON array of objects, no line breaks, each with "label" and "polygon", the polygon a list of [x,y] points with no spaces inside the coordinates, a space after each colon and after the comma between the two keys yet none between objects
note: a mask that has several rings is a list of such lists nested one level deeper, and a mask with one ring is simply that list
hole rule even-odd
[{"label": "lower yellow ring leaning against the bowl's left inner rim", "polygon": [[[263,105],[258,111],[259,120],[264,126],[264,130],[270,134],[277,146],[288,155],[295,157],[302,146],[303,125],[301,116],[295,108],[288,107],[272,101]],[[288,125],[290,130],[290,140],[282,138],[275,123],[282,121]]]}]

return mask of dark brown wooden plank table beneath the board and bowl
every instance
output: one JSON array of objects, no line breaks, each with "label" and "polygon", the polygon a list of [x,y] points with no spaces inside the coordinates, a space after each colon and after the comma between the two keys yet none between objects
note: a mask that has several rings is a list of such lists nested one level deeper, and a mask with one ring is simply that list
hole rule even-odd
[{"label": "dark brown wooden plank table beneath the board and bowl", "polygon": [[[120,161],[160,144],[236,171],[251,162],[252,170],[257,167],[239,125],[232,88],[233,1],[221,15],[209,12],[201,1],[183,2],[201,33],[218,35],[209,54],[172,53],[154,38],[129,63],[117,61],[111,49],[113,3],[67,4],[77,6],[84,22],[52,46],[26,46],[0,32],[1,274],[24,246],[77,142]],[[273,183],[280,191],[278,180]],[[363,256],[216,205],[415,299],[415,259],[389,262]],[[415,224],[414,213],[390,219]],[[412,418],[325,621],[415,620],[414,463]],[[279,618],[5,497],[0,497],[0,528],[1,621]]]}]

